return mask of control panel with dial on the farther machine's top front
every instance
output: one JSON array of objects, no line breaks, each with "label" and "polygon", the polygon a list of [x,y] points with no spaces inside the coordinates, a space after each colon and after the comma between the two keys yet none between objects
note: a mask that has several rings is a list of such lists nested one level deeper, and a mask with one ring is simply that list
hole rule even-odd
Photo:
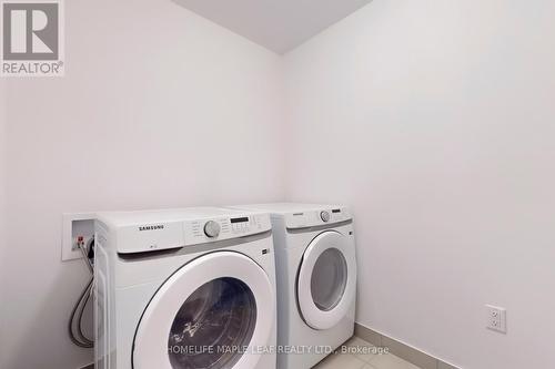
[{"label": "control panel with dial on the farther machine's top front", "polygon": [[349,222],[352,218],[349,208],[341,206],[285,214],[285,226],[291,229],[309,228]]}]

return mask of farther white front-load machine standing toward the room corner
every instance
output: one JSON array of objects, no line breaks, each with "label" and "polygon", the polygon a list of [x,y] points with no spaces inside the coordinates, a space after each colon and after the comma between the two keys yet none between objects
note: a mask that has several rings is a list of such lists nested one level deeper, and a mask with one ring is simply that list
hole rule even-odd
[{"label": "farther white front-load machine standing toward the room corner", "polygon": [[279,296],[278,368],[311,368],[354,334],[353,217],[349,208],[333,205],[238,208],[271,213]]}]

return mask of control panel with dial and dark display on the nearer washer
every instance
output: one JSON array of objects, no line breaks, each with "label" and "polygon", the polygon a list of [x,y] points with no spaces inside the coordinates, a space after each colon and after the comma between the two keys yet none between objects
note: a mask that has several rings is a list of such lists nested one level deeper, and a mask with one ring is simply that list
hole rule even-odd
[{"label": "control panel with dial and dark display on the nearer washer", "polygon": [[249,214],[236,217],[186,221],[183,225],[185,246],[244,237],[272,228],[270,215]]}]

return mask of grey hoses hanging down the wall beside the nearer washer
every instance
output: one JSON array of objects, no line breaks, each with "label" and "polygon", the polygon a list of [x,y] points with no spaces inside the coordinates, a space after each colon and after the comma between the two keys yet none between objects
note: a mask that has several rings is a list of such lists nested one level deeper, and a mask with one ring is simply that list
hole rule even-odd
[{"label": "grey hoses hanging down the wall beside the nearer washer", "polygon": [[91,273],[91,279],[87,284],[83,291],[81,293],[81,296],[73,306],[73,310],[71,311],[70,320],[68,324],[68,331],[71,341],[75,346],[82,348],[93,348],[94,340],[88,338],[84,335],[82,328],[82,321],[83,321],[84,309],[87,307],[87,304],[91,299],[92,289],[94,286],[94,277],[93,277],[94,265],[92,262],[94,259],[94,237],[91,238],[91,240],[87,246],[79,244],[79,249],[81,250],[81,254],[83,254],[83,260],[87,264],[87,268]]}]

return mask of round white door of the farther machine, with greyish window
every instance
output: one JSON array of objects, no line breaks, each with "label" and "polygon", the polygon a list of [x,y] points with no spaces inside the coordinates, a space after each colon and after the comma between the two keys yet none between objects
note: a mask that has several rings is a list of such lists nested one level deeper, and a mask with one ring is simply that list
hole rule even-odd
[{"label": "round white door of the farther machine, with greyish window", "polygon": [[296,294],[303,319],[314,329],[330,329],[345,317],[356,294],[356,262],[347,237],[326,230],[309,244]]}]

